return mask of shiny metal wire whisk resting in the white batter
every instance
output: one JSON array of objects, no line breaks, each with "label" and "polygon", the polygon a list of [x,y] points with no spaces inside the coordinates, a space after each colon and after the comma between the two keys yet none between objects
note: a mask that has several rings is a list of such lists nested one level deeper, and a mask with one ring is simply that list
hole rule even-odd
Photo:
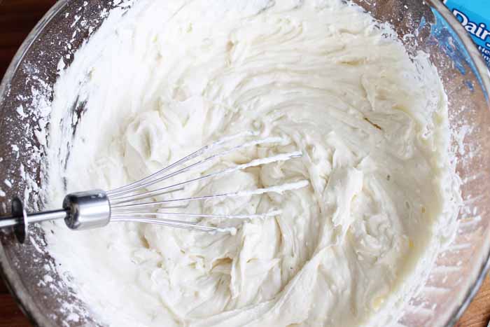
[{"label": "shiny metal wire whisk resting in the white batter", "polygon": [[[180,183],[174,183],[172,185],[165,186],[164,181],[172,179],[172,177],[183,174],[185,172],[195,170],[200,166],[202,167],[207,162],[211,162],[212,160],[221,158],[234,151],[238,151],[241,148],[258,146],[260,144],[273,144],[283,141],[281,137],[269,137],[267,139],[247,141],[238,146],[232,146],[231,148],[223,149],[225,148],[225,144],[228,144],[233,139],[244,137],[244,134],[250,135],[253,133],[245,132],[237,134],[232,137],[226,137],[224,139],[216,141],[208,146],[204,146],[194,153],[187,155],[185,158],[174,162],[172,165],[160,169],[158,172],[155,172],[154,174],[151,174],[144,179],[135,181],[134,183],[130,183],[126,186],[115,188],[109,191],[88,190],[85,192],[77,192],[66,195],[62,205],[63,209],[33,212],[28,214],[25,210],[25,206],[22,200],[20,200],[19,197],[15,197],[12,200],[12,212],[10,216],[3,216],[0,218],[0,228],[13,226],[16,237],[18,238],[19,242],[23,243],[27,236],[27,227],[29,223],[40,223],[42,221],[52,221],[57,219],[64,219],[66,225],[73,230],[99,228],[111,222],[126,221],[138,223],[153,223],[176,228],[198,230],[202,232],[230,232],[230,228],[220,228],[209,225],[202,225],[195,222],[168,219],[164,217],[187,216],[197,218],[209,217],[251,219],[276,216],[277,214],[280,214],[280,211],[273,210],[265,212],[263,214],[232,215],[183,213],[167,210],[175,208],[176,204],[178,205],[190,201],[207,200],[220,197],[243,197],[273,192],[282,193],[286,190],[296,190],[299,188],[303,188],[309,184],[308,181],[300,180],[293,183],[283,183],[281,185],[268,188],[258,188],[255,190],[244,190],[232,193],[222,193],[198,197],[184,197],[179,199],[168,198],[165,200],[155,200],[155,197],[160,197],[162,195],[168,195],[169,193],[183,190],[183,187],[190,183],[203,181],[205,179],[212,179],[216,176],[223,176],[225,174],[232,174],[233,172],[237,172],[248,167],[257,167],[272,162],[287,161],[292,158],[299,158],[302,156],[302,153],[300,151],[281,153],[267,158],[251,160],[250,162],[236,165],[235,167],[223,169],[218,172],[211,172],[196,177],[194,179],[189,179]],[[216,154],[211,154],[218,149],[221,149],[221,151]],[[204,155],[209,156],[204,157]]]}]

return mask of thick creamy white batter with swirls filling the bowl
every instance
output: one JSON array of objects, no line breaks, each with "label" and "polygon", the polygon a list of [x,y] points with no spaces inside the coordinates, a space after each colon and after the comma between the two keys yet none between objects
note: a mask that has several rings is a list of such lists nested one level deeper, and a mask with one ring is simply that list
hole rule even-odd
[{"label": "thick creamy white batter with swirls filling the bowl", "polygon": [[[393,324],[444,243],[441,230],[454,226],[446,96],[426,57],[411,60],[390,27],[339,0],[141,0],[122,13],[111,12],[55,85],[52,207],[66,192],[123,186],[244,130],[283,141],[208,172],[304,155],[186,195],[309,186],[188,208],[282,210],[207,222],[235,226],[236,235],[45,224],[50,253],[98,319],[118,327]],[[80,121],[66,110],[76,99],[87,109]]]}]

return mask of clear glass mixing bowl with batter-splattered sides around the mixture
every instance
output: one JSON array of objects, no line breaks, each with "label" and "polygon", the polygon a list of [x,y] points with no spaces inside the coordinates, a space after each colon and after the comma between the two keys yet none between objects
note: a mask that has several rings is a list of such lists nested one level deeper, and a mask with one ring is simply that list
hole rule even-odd
[{"label": "clear glass mixing bowl with batter-splattered sides around the mixture", "polygon": [[[114,1],[118,2],[118,1]],[[430,54],[449,97],[449,116],[463,182],[461,222],[449,249],[439,253],[426,284],[404,308],[400,326],[451,326],[461,316],[485,276],[490,253],[490,76],[483,60],[456,19],[439,0],[356,0],[381,22],[390,22],[415,53]],[[109,4],[111,3],[111,4]],[[35,134],[49,123],[59,58],[69,64],[73,52],[90,38],[112,6],[106,0],[58,1],[18,50],[0,85],[0,209],[29,190],[27,204],[43,207],[37,186],[43,180],[43,150]],[[68,46],[69,44],[69,46]],[[21,110],[21,109],[22,110]],[[35,110],[34,110],[35,109]],[[41,109],[41,110],[39,110]],[[78,104],[67,104],[76,114]],[[71,123],[71,122],[67,122]],[[22,179],[29,172],[35,179]],[[99,326],[77,315],[87,305],[55,275],[55,261],[42,251],[43,232],[30,227],[30,242],[18,244],[10,230],[0,232],[0,267],[10,291],[38,326]],[[66,249],[69,251],[69,249]],[[50,274],[46,274],[50,270]],[[90,309],[88,309],[90,312]]]}]

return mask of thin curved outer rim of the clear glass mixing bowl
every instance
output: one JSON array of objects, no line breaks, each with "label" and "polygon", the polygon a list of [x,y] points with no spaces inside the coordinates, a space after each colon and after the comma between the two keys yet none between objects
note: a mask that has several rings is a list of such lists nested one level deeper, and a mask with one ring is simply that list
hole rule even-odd
[{"label": "thin curved outer rim of the clear glass mixing bowl", "polygon": [[[475,64],[475,69],[479,76],[482,77],[481,83],[484,87],[484,92],[486,96],[486,103],[489,104],[490,110],[490,70],[486,67],[486,64],[479,54],[477,48],[475,47],[475,43],[473,43],[472,39],[465,31],[464,27],[458,22],[458,20],[452,15],[451,11],[444,6],[443,2],[440,0],[420,0],[428,4],[430,7],[434,8],[441,16],[446,20],[456,35],[463,42],[463,46],[468,50],[470,54],[470,58],[472,62]],[[0,0],[1,2],[1,0]],[[0,103],[3,102],[3,95],[6,95],[6,90],[8,90],[8,85],[10,85],[10,81],[13,78],[15,71],[17,71],[20,62],[25,57],[27,51],[37,39],[38,35],[43,32],[44,28],[52,18],[54,18],[59,11],[61,11],[66,4],[68,4],[69,0],[58,0],[46,13],[43,15],[41,20],[34,26],[34,28],[29,32],[25,41],[22,42],[21,46],[15,53],[12,61],[8,65],[8,68],[3,75],[3,78],[0,83]],[[445,0],[444,0],[445,2]],[[482,265],[477,274],[475,274],[475,281],[470,283],[470,287],[468,291],[465,293],[463,297],[463,301],[459,307],[456,307],[453,312],[449,315],[449,320],[445,322],[444,326],[454,326],[454,324],[461,318],[465,310],[470,305],[470,302],[475,298],[475,295],[479,291],[479,288],[482,286],[484,279],[486,278],[486,274],[490,269],[490,250],[484,256],[484,260],[482,261]],[[3,249],[3,244],[0,243],[0,276],[3,278],[8,291],[15,302],[17,302],[18,306],[22,310],[22,312],[27,316],[29,321],[34,324],[34,326],[49,326],[49,322],[46,319],[46,316],[41,309],[37,307],[35,302],[31,299],[27,289],[20,281],[20,279],[15,278],[15,273],[12,267],[9,265],[5,250]]]}]

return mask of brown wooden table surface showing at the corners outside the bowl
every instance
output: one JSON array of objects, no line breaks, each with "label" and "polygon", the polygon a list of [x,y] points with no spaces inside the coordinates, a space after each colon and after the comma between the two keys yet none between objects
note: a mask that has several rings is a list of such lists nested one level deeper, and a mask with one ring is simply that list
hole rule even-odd
[{"label": "brown wooden table surface showing at the corners outside the bowl", "polygon": [[[0,0],[0,76],[36,22],[55,0]],[[490,319],[490,277],[456,327],[486,327]],[[0,327],[31,326],[0,280]]]}]

